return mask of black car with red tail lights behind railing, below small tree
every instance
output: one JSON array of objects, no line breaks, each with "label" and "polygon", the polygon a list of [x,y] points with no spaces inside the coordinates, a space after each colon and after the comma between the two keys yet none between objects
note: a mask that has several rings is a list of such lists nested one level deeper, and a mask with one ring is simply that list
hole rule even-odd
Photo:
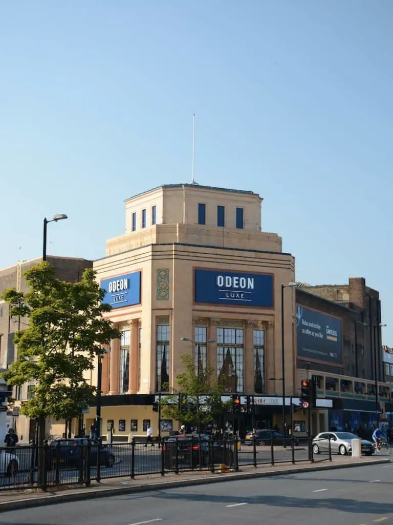
[{"label": "black car with red tail lights behind railing, below small tree", "polygon": [[[225,464],[234,464],[234,444],[235,441],[225,443],[211,439],[206,434],[199,435],[179,435],[170,437],[162,447],[164,454],[164,467],[167,470],[174,470],[176,466],[181,468],[209,467]],[[177,452],[176,452],[177,449]]]}]

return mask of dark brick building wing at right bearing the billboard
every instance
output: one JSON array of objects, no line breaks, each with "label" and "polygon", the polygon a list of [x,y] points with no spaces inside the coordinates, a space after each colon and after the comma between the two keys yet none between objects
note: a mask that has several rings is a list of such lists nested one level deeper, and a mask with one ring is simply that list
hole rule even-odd
[{"label": "dark brick building wing at right bearing the billboard", "polygon": [[[298,283],[296,308],[298,384],[313,376],[318,396],[333,400],[325,428],[369,432],[390,410],[378,291],[364,278],[347,285]],[[313,414],[314,432],[323,426],[318,417]]]}]

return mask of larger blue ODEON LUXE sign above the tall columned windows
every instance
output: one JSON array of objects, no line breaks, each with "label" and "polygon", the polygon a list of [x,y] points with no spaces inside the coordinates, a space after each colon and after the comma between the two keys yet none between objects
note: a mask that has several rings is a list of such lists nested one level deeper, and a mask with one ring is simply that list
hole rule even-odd
[{"label": "larger blue ODEON LUXE sign above the tall columned windows", "polygon": [[195,302],[271,308],[273,276],[223,270],[195,270]]}]

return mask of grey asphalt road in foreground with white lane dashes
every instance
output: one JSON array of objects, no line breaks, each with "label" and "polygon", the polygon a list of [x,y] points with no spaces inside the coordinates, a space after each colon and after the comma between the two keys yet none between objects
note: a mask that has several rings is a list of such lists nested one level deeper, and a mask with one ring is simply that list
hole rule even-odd
[{"label": "grey asphalt road in foreground with white lane dashes", "polygon": [[5,512],[2,525],[393,525],[393,464]]}]

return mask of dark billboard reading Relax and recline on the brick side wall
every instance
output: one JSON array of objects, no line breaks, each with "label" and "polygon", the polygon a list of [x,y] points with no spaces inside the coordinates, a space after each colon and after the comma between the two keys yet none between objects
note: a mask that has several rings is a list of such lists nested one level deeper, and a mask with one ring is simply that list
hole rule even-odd
[{"label": "dark billboard reading Relax and recline on the brick side wall", "polygon": [[299,357],[342,364],[341,319],[298,304],[296,325]]}]

